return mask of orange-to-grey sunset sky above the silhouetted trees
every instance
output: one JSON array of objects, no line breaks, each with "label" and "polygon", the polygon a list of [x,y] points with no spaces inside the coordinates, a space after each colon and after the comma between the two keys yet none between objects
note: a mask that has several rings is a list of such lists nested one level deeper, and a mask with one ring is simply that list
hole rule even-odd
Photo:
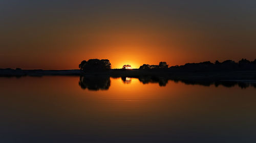
[{"label": "orange-to-grey sunset sky above the silhouetted trees", "polygon": [[256,59],[256,1],[0,1],[0,68]]}]

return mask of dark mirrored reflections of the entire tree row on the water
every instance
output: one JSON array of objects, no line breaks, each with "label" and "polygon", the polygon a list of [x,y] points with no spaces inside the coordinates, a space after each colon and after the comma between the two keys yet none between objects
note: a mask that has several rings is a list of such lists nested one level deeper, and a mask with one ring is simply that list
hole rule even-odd
[{"label": "dark mirrored reflections of the entire tree row on the water", "polygon": [[[125,84],[132,82],[132,77],[120,77],[121,81]],[[133,77],[135,78],[135,77]],[[248,87],[256,88],[256,80],[238,80],[238,81],[208,81],[208,80],[177,80],[168,79],[166,77],[157,76],[140,76],[136,77],[143,84],[158,83],[160,87],[165,87],[168,80],[173,80],[175,82],[182,82],[189,85],[203,85],[209,87],[210,85],[215,85],[219,87],[222,85],[227,88],[234,87],[238,85],[241,89],[246,89]],[[93,76],[80,76],[79,85],[82,89],[88,89],[93,91],[98,90],[108,90],[111,85],[110,76],[93,75]]]}]

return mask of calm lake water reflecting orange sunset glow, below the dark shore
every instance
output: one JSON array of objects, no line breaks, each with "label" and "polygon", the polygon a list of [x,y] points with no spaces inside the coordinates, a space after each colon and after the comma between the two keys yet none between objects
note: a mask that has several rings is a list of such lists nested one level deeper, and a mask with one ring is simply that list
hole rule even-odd
[{"label": "calm lake water reflecting orange sunset glow, below the dark shore", "polygon": [[0,142],[256,142],[255,85],[76,76],[0,81]]}]

